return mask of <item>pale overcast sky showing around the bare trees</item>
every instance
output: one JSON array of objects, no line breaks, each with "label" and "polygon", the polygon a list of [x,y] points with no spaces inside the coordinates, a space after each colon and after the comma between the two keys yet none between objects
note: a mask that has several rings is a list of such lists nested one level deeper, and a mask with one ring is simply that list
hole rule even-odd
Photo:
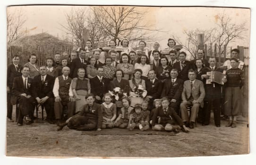
[{"label": "pale overcast sky showing around the bare trees", "polygon": [[[60,38],[65,34],[60,26],[67,25],[65,12],[70,12],[74,6],[24,6],[24,7],[9,7],[9,12],[22,8],[26,15],[26,23],[23,30],[30,30],[29,34],[50,33]],[[80,7],[79,7],[80,8]],[[167,47],[167,40],[171,34],[179,37],[185,42],[186,38],[184,30],[209,29],[216,24],[215,15],[225,12],[234,22],[240,24],[242,21],[247,21],[247,29],[250,24],[250,10],[245,8],[204,8],[204,7],[147,7],[148,14],[145,16],[145,22],[155,25],[156,29],[161,29],[164,33],[157,33],[161,38],[161,49]],[[36,27],[36,28],[35,28]],[[244,41],[236,41],[231,46],[248,46],[249,45],[249,30],[245,33],[247,36]]]}]

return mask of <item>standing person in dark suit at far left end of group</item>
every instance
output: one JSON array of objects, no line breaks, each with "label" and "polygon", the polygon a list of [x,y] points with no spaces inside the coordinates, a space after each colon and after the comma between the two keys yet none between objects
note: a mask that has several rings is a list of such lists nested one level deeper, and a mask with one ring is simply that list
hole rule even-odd
[{"label": "standing person in dark suit at far left end of group", "polygon": [[[15,77],[22,75],[21,69],[22,66],[18,65],[19,56],[15,55],[12,57],[12,64],[7,68],[7,118],[9,122],[13,122],[12,120],[12,104],[11,104],[11,89],[13,80]],[[16,102],[14,103],[16,104]],[[13,105],[14,105],[13,104]]]}]

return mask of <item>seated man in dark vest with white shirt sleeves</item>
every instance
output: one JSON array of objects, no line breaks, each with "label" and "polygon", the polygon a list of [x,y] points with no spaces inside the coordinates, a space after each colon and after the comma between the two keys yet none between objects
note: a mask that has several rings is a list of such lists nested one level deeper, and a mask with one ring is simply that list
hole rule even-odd
[{"label": "seated man in dark vest with white shirt sleeves", "polygon": [[57,120],[57,125],[60,124],[60,119],[63,112],[63,104],[68,106],[68,118],[75,113],[76,99],[73,98],[73,92],[71,89],[72,79],[68,77],[69,73],[69,67],[63,67],[62,75],[55,79],[53,86],[53,95],[55,97],[54,113]]}]

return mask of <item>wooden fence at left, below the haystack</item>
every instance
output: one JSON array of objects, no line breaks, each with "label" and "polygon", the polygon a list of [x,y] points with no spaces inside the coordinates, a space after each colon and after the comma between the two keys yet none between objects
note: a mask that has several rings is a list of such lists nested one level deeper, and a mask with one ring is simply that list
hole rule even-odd
[{"label": "wooden fence at left, below the haystack", "polygon": [[45,59],[48,57],[53,58],[55,53],[62,54],[67,51],[69,54],[72,47],[64,46],[36,46],[36,47],[20,47],[20,46],[10,46],[7,49],[7,64],[11,64],[12,57],[18,55],[20,57],[20,65],[24,65],[28,62],[31,53],[37,56],[37,65],[45,65]]}]

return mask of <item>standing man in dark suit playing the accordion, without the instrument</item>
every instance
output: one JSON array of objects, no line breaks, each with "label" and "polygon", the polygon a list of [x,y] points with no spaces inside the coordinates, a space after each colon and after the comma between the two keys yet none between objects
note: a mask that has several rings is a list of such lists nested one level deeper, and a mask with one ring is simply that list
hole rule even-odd
[{"label": "standing man in dark suit playing the accordion, without the instrument", "polygon": [[[223,72],[223,69],[216,67],[216,58],[209,58],[210,66],[207,68],[206,72],[219,71]],[[209,76],[203,73],[203,81],[209,79]],[[202,125],[209,125],[211,109],[213,107],[214,124],[216,127],[221,126],[221,88],[222,85],[216,82],[211,82],[210,84],[205,84],[205,107],[202,111]]]}]

